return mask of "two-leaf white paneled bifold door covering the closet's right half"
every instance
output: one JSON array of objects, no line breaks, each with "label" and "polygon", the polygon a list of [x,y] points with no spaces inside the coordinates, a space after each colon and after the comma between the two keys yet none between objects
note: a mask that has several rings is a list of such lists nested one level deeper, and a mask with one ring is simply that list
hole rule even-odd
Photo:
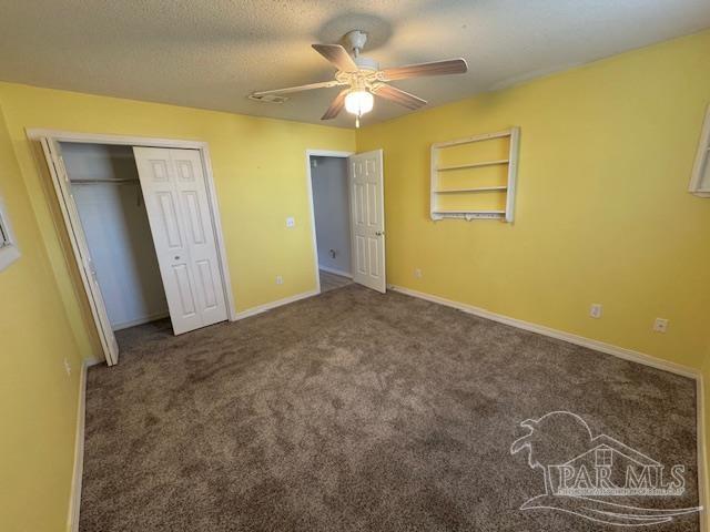
[{"label": "two-leaf white paneled bifold door covering the closet's right half", "polygon": [[175,335],[224,321],[226,304],[197,150],[133,147]]}]

